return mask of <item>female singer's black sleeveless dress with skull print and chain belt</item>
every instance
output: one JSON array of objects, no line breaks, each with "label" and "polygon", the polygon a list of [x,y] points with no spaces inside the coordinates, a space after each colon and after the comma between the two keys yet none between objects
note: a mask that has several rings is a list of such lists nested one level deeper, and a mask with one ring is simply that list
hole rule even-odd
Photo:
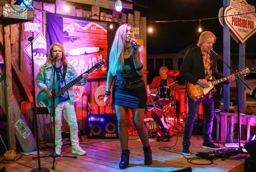
[{"label": "female singer's black sleeveless dress with skull print and chain belt", "polygon": [[145,108],[147,93],[143,76],[134,68],[132,57],[124,59],[123,72],[115,76],[112,101],[114,105],[128,108]]}]

